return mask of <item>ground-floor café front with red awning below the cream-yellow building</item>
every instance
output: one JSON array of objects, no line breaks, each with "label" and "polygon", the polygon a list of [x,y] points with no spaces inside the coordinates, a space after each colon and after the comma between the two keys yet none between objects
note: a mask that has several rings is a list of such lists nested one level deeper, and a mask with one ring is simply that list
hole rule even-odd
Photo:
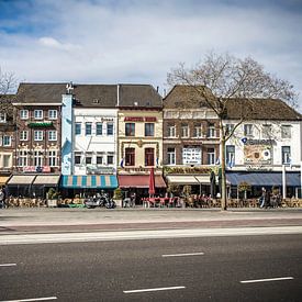
[{"label": "ground-floor caf\u00e9 front with red awning below the cream-yellow building", "polygon": [[[120,175],[119,186],[123,190],[125,197],[136,194],[136,204],[142,204],[142,198],[149,195],[149,175]],[[160,175],[155,176],[155,195],[165,195],[166,182]]]}]

